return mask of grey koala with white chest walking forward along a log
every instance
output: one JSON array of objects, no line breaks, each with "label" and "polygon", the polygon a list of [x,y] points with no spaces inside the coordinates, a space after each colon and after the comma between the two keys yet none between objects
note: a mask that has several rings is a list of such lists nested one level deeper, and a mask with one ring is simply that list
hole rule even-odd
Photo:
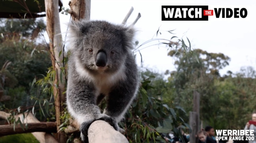
[{"label": "grey koala with white chest walking forward along a log", "polygon": [[[81,138],[95,120],[107,121],[120,131],[118,122],[136,97],[138,69],[133,55],[132,27],[106,21],[69,24],[67,109],[80,123]],[[103,113],[97,106],[106,98]]]}]

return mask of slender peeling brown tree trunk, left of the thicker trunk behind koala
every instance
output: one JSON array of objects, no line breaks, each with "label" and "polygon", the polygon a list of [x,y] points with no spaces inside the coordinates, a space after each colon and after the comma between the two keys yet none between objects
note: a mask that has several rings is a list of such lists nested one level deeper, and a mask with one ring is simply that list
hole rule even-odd
[{"label": "slender peeling brown tree trunk, left of the thicker trunk behind koala", "polygon": [[[56,111],[56,123],[57,130],[62,124],[60,119],[62,111],[64,111],[65,103],[65,73],[62,73],[62,36],[60,31],[60,17],[58,10],[58,0],[45,0],[45,9],[46,9],[46,20],[47,20],[47,34],[49,36],[49,48],[52,60],[52,66],[55,71],[53,94],[54,94],[54,103]],[[59,56],[60,55],[60,56]],[[64,132],[58,132],[58,141],[65,143],[67,138],[65,137]]]}]

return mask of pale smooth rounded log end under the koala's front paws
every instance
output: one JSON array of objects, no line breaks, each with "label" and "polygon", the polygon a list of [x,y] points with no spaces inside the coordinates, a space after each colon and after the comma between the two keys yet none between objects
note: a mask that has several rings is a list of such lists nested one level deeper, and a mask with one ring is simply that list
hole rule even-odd
[{"label": "pale smooth rounded log end under the koala's front paws", "polygon": [[94,121],[90,125],[88,139],[89,143],[129,143],[123,134],[102,120]]}]

